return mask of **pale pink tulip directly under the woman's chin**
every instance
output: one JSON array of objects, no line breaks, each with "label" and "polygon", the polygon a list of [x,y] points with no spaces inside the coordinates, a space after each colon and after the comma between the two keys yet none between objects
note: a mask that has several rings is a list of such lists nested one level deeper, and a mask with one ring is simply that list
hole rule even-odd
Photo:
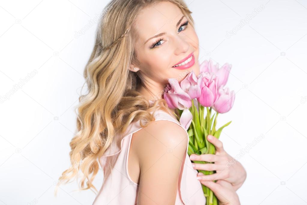
[{"label": "pale pink tulip directly under the woman's chin", "polygon": [[191,99],[200,97],[200,87],[197,85],[197,77],[193,70],[180,82],[180,86],[184,92],[188,93]]}]

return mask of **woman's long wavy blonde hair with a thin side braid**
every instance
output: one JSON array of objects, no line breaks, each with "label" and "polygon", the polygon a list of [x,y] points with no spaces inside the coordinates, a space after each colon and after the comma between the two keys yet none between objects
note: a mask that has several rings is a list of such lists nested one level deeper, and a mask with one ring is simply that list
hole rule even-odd
[{"label": "woman's long wavy blonde hair with a thin side braid", "polygon": [[100,18],[95,46],[84,70],[87,94],[79,97],[78,132],[70,142],[71,166],[59,177],[55,195],[61,183],[78,177],[79,170],[83,173],[78,183],[80,190],[93,188],[98,192],[92,181],[99,171],[98,160],[113,136],[124,133],[131,122],[138,120],[144,121],[140,125],[146,127],[155,120],[151,112],[157,109],[169,113],[164,99],[149,103],[138,92],[139,86],[146,88],[142,76],[129,70],[130,64],[139,65],[134,49],[136,16],[159,2],[177,5],[194,27],[192,12],[183,0],[112,0],[105,7],[107,11]]}]

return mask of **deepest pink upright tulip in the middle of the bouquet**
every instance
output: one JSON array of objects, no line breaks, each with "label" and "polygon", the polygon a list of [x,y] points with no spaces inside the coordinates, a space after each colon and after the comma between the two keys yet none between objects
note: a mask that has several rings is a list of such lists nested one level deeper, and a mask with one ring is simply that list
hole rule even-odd
[{"label": "deepest pink upright tulip in the middle of the bouquet", "polygon": [[211,107],[217,99],[217,77],[214,73],[200,73],[197,84],[201,89],[201,95],[197,101],[204,107]]}]

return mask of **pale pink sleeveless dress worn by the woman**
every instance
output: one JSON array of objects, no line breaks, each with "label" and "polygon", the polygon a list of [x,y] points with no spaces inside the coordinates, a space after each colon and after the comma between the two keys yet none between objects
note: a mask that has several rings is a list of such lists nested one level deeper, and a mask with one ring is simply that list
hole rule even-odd
[{"label": "pale pink sleeveless dress worn by the woman", "polygon": [[[177,119],[169,113],[157,110],[154,112],[155,121],[168,120],[185,129]],[[134,132],[142,129],[140,121],[129,125],[122,138],[115,136],[117,143],[111,144],[100,158],[99,162],[103,168],[103,185],[99,190],[92,205],[134,205],[137,204],[138,184],[132,181],[128,174],[128,155],[131,137]],[[185,130],[186,131],[186,130]],[[189,140],[188,132],[187,140]],[[186,155],[181,164],[176,196],[176,205],[205,205],[201,183],[196,179],[197,170],[193,169],[188,156]]]}]

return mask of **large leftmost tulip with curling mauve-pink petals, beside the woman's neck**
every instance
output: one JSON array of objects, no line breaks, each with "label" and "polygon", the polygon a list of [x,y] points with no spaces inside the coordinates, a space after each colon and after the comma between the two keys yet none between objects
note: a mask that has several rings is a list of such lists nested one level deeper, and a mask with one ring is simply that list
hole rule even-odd
[{"label": "large leftmost tulip with curling mauve-pink petals, beside the woman's neck", "polygon": [[178,108],[180,110],[190,108],[192,106],[192,102],[188,93],[185,93],[181,89],[179,82],[176,79],[169,78],[168,81],[171,88],[169,90],[165,90],[164,99],[169,108]]}]

